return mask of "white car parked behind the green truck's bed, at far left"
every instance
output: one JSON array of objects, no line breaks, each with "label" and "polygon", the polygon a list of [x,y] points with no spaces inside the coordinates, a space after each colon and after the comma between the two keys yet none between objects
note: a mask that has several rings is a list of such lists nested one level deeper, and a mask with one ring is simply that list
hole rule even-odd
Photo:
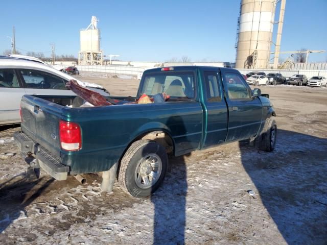
[{"label": "white car parked behind the green truck's bed, at far left", "polygon": [[[20,122],[19,107],[25,94],[76,95],[66,82],[75,79],[49,65],[27,59],[0,57],[0,125]],[[78,84],[109,96],[105,88],[75,79]]]}]

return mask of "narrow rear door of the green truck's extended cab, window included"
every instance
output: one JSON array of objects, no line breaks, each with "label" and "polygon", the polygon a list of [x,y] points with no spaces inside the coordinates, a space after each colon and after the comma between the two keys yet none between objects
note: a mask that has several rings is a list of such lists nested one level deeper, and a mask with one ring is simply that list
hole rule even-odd
[{"label": "narrow rear door of the green truck's extended cab, window included", "polygon": [[[225,141],[228,113],[218,69],[204,70],[204,139],[203,148]],[[205,120],[206,118],[206,120]]]}]

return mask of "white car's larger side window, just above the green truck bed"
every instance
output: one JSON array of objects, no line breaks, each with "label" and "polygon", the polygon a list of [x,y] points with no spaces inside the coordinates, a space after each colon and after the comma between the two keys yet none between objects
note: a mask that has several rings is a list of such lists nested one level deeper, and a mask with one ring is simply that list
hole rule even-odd
[{"label": "white car's larger side window, just above the green truck bed", "polygon": [[21,69],[20,73],[26,88],[67,89],[62,78],[48,72]]}]

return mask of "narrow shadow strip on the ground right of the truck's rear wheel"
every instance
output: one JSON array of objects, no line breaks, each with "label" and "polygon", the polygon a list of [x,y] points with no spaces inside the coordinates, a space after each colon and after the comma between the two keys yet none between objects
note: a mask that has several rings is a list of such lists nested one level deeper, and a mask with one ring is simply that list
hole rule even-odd
[{"label": "narrow shadow strip on the ground right of the truck's rear wheel", "polygon": [[184,157],[169,159],[170,166],[166,181],[151,195],[151,202],[154,204],[153,244],[155,245],[184,244],[185,205],[188,192]]}]

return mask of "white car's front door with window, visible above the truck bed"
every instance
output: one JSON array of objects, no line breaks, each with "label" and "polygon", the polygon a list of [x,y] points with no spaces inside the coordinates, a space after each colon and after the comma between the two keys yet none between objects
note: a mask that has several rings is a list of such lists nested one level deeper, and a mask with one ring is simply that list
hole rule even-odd
[{"label": "white car's front door with window, visible above the truck bed", "polygon": [[19,69],[19,75],[27,94],[75,95],[65,86],[65,80],[50,72]]}]

